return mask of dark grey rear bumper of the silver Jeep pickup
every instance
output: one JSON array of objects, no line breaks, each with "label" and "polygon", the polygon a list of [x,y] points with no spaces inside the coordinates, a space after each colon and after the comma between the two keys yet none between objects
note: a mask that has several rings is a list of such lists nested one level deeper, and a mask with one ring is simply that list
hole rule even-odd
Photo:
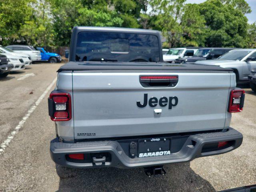
[{"label": "dark grey rear bumper of the silver Jeep pickup", "polygon": [[[130,158],[127,152],[121,147],[118,141],[94,141],[94,142],[76,142],[64,143],[54,139],[50,143],[50,153],[52,160],[62,166],[76,168],[93,168],[93,167],[118,167],[118,168],[135,168],[156,166],[177,162],[188,162],[194,158],[223,154],[238,148],[242,144],[243,136],[240,132],[229,128],[226,132],[210,132],[203,134],[190,135],[184,141],[183,146],[178,152],[172,152],[170,155]],[[216,142],[232,141],[232,145],[220,150],[204,151],[202,148],[206,144]],[[76,153],[109,153],[111,161],[96,165],[93,162],[78,163],[70,162],[66,159],[67,154]]]}]

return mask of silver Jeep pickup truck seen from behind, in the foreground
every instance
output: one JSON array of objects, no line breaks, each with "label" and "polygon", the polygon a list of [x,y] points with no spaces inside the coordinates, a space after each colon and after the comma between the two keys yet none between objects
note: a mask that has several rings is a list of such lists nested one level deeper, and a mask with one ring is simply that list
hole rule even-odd
[{"label": "silver Jeep pickup truck seen from behind, in the foreground", "polygon": [[163,62],[154,30],[75,27],[70,62],[48,98],[56,164],[77,168],[147,167],[238,148],[230,128],[244,91],[232,69]]}]

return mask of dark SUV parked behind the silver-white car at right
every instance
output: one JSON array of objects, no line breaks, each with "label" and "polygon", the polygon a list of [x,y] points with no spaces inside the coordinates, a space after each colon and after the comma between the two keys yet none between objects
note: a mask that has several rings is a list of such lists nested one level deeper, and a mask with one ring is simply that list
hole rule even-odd
[{"label": "dark SUV parked behind the silver-white car at right", "polygon": [[226,52],[233,50],[234,48],[200,48],[192,57],[182,57],[173,61],[173,63],[194,63],[198,60],[209,60],[216,59],[219,56],[222,56]]}]

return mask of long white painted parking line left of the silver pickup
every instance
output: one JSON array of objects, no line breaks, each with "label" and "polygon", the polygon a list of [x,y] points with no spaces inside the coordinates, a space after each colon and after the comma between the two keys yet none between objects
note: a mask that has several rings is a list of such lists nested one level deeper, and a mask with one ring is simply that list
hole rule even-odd
[{"label": "long white painted parking line left of the silver pickup", "polygon": [[36,102],[31,106],[31,108],[28,110],[26,115],[22,118],[22,120],[19,122],[19,124],[12,130],[12,132],[7,136],[6,140],[0,144],[0,154],[6,150],[7,146],[10,144],[14,136],[19,132],[20,128],[24,125],[28,117],[32,114],[32,112],[36,109],[36,107],[40,104],[40,102],[43,100],[45,95],[50,91],[52,86],[56,83],[57,78],[55,78],[51,84],[46,88],[46,90],[43,92],[43,94],[36,100]]}]

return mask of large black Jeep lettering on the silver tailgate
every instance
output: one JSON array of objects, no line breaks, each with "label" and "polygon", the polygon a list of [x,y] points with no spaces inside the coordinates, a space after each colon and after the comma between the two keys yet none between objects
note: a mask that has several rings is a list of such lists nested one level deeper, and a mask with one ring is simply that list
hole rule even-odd
[{"label": "large black Jeep lettering on the silver tailgate", "polygon": [[[140,101],[137,101],[137,106],[142,108],[142,107],[146,107],[147,104],[150,106],[150,107],[155,107],[157,106],[158,104],[158,99],[156,97],[151,97],[149,100],[148,100],[148,94],[145,93],[144,94],[144,102],[143,104],[140,103]],[[169,109],[172,109],[173,106],[176,106],[178,104],[178,97],[176,96],[173,96],[173,97],[169,97],[169,100],[167,97],[161,97],[159,99],[159,105],[161,107],[165,107],[166,105],[168,104],[168,108]]]}]

